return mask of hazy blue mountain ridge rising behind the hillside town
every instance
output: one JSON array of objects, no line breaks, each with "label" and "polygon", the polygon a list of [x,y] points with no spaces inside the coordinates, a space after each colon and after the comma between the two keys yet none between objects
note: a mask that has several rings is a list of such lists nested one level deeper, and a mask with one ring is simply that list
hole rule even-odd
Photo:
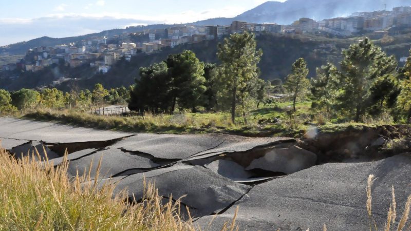
[{"label": "hazy blue mountain ridge rising behind the hillside town", "polygon": [[40,37],[27,42],[10,44],[0,47],[0,54],[9,52],[11,54],[24,54],[33,47],[54,46],[84,40],[92,36],[110,36],[122,33],[141,32],[145,29],[162,29],[178,25],[229,25],[232,21],[246,21],[249,23],[277,23],[288,25],[301,17],[309,17],[314,20],[323,20],[338,16],[348,16],[359,11],[375,11],[385,8],[392,9],[397,6],[411,6],[411,0],[288,0],[284,3],[268,1],[253,9],[250,9],[235,17],[218,17],[208,20],[197,21],[188,24],[156,24],[141,27],[129,27],[125,29],[104,30],[98,33],[71,36],[63,38]]}]

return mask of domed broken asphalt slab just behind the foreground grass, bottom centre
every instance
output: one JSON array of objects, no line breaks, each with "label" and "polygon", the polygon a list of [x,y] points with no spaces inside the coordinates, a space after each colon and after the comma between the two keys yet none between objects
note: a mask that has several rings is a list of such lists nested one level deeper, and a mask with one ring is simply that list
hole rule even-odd
[{"label": "domed broken asphalt slab just behind the foreground grass, bottom centre", "polygon": [[244,196],[250,186],[231,181],[201,166],[177,164],[125,178],[114,178],[116,191],[128,190],[130,198],[142,199],[144,179],[155,182],[159,194],[181,199],[193,217],[218,213]]}]

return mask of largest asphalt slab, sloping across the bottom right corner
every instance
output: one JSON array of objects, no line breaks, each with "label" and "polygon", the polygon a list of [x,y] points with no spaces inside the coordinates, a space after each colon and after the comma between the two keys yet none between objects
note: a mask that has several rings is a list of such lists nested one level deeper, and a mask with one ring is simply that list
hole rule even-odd
[{"label": "largest asphalt slab, sloping across the bottom right corner", "polygon": [[[385,160],[346,164],[328,163],[254,186],[241,200],[222,215],[202,217],[200,227],[220,230],[236,221],[247,230],[366,230],[366,183],[369,175],[377,180],[372,187],[373,218],[384,227],[391,203],[391,186],[397,199],[397,216],[402,214],[411,194],[411,155]],[[210,221],[213,220],[211,226]]]}]

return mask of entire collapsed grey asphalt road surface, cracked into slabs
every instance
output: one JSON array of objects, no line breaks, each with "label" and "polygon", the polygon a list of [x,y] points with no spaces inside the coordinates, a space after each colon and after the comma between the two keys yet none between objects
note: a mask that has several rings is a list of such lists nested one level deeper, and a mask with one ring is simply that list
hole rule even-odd
[{"label": "entire collapsed grey asphalt road surface, cracked into slabs", "polygon": [[379,227],[386,221],[391,186],[397,217],[411,194],[410,155],[314,166],[317,156],[290,138],[127,133],[0,118],[0,140],[16,158],[44,146],[54,166],[67,147],[69,175],[91,168],[95,179],[100,162],[95,180],[117,182],[116,191],[128,190],[137,200],[144,180],[155,182],[165,201],[182,197],[196,225],[206,230],[231,222],[237,206],[240,230],[322,230],[323,224],[328,230],[368,230],[370,174],[378,178],[372,208]]}]

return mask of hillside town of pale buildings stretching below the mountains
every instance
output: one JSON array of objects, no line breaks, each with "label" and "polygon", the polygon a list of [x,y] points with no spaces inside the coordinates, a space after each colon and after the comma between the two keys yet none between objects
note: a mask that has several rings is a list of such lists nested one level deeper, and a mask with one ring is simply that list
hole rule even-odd
[{"label": "hillside town of pale buildings stretching below the mountains", "polygon": [[164,47],[214,40],[244,31],[260,33],[314,33],[327,32],[340,36],[379,31],[391,27],[411,27],[411,7],[397,7],[392,11],[359,12],[349,17],[314,21],[300,18],[291,25],[254,24],[234,21],[231,25],[182,25],[166,29],[144,30],[139,33],[114,37],[92,37],[77,43],[30,49],[25,59],[0,68],[4,71],[22,69],[38,71],[52,64],[65,64],[72,68],[82,65],[96,67],[106,73],[118,60],[127,61],[138,53],[153,53]]}]

